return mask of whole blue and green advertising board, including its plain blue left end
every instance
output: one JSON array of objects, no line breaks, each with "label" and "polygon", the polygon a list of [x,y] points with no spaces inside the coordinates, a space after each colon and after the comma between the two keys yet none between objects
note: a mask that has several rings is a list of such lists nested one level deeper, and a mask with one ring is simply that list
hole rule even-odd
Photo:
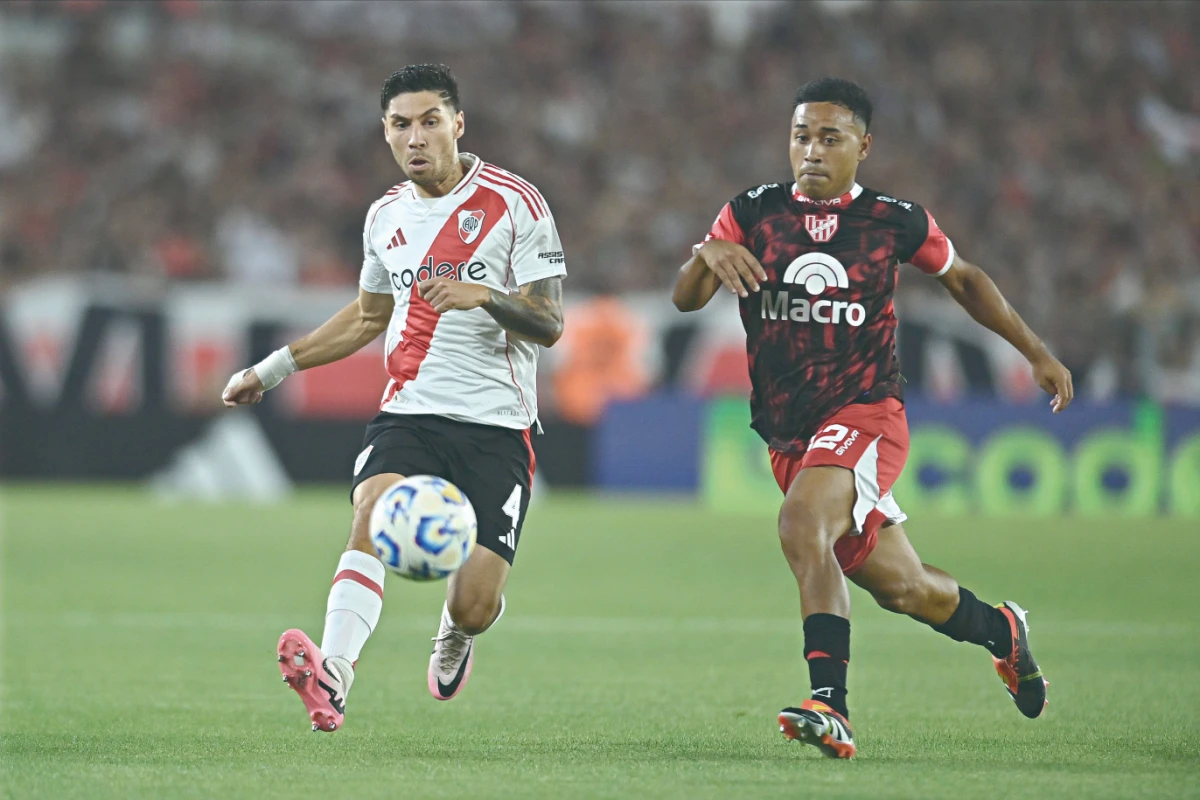
[{"label": "whole blue and green advertising board, including its plain blue left end", "polygon": [[[1200,409],[1153,403],[911,399],[896,499],[910,513],[1200,518]],[[596,431],[607,488],[698,489],[715,511],[774,513],[779,488],[744,398],[662,395],[620,403]]]}]

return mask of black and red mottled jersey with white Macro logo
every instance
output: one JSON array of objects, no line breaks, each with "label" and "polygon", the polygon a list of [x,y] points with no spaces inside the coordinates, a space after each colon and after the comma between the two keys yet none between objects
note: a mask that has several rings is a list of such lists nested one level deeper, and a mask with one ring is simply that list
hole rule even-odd
[{"label": "black and red mottled jersey with white Macro logo", "polygon": [[739,301],[751,427],[803,450],[851,403],[902,399],[893,294],[900,264],[942,275],[954,246],[920,205],[859,185],[829,200],[767,184],[721,209],[704,241],[745,246],[767,281]]}]

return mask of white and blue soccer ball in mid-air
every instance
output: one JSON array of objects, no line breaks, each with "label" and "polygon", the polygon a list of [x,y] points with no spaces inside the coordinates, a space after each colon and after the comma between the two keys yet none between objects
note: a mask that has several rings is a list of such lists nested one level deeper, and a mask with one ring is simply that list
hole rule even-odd
[{"label": "white and blue soccer ball in mid-air", "polygon": [[379,560],[409,581],[440,581],[475,547],[475,510],[450,481],[413,475],[396,481],[371,510],[371,542]]}]

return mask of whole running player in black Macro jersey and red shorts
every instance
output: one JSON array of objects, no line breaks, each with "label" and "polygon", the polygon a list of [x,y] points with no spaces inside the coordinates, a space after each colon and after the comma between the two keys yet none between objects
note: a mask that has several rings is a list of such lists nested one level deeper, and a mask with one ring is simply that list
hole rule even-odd
[{"label": "whole running player in black Macro jersey and red shorts", "polygon": [[[856,753],[846,705],[850,593],[992,655],[1018,709],[1036,717],[1046,681],[1033,661],[1026,612],[989,606],[922,564],[892,485],[908,455],[893,307],[900,264],[941,281],[982,325],[1003,336],[1062,411],[1070,373],[966,261],[920,205],[864,188],[871,103],[838,78],[796,94],[792,179],[743,192],[721,209],[674,288],[680,311],[724,285],[739,297],[750,367],[751,427],[784,491],[779,537],[800,589],[811,696],[779,715],[787,739],[832,758]],[[844,577],[845,576],[845,577]]]}]

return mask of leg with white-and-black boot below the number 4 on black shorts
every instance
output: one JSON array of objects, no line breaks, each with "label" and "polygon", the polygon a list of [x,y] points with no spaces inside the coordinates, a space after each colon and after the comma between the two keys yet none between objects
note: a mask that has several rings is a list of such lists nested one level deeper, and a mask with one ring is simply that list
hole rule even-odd
[{"label": "leg with white-and-black boot below the number 4 on black shorts", "polygon": [[475,637],[504,613],[509,563],[487,549],[475,551],[450,579],[438,634],[430,654],[430,693],[439,700],[456,697],[475,663]]}]

